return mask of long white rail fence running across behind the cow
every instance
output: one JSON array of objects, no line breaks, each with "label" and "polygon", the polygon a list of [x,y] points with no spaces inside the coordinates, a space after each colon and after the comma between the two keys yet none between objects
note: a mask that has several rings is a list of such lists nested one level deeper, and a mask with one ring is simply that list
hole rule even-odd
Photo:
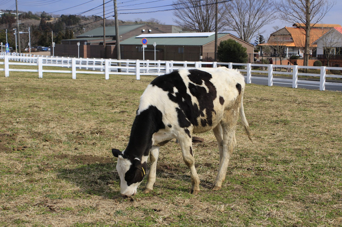
[{"label": "long white rail fence running across behind the cow", "polygon": [[[1,64],[5,71],[5,77],[10,75],[11,71],[20,72],[38,72],[39,78],[43,77],[43,73],[71,73],[72,78],[76,79],[77,74],[104,74],[105,79],[109,79],[110,74],[135,75],[139,80],[141,75],[162,75],[170,73],[180,68],[197,68],[197,67],[217,67],[217,65],[227,65],[230,69],[233,65],[245,66],[245,69],[239,71],[246,73],[246,83],[250,84],[252,73],[262,73],[267,75],[268,86],[273,86],[273,76],[276,74],[291,75],[291,78],[280,78],[286,83],[292,82],[292,88],[298,87],[298,76],[313,76],[319,78],[319,81],[313,81],[314,86],[319,86],[319,90],[325,90],[326,71],[342,70],[342,67],[326,67],[326,66],[299,66],[299,65],[272,65],[272,64],[251,64],[251,63],[225,63],[225,62],[188,62],[188,61],[151,61],[151,60],[116,60],[116,59],[90,59],[90,58],[64,58],[50,56],[29,56],[21,55],[0,55],[0,59],[4,59]],[[38,69],[12,69],[10,65],[31,65],[38,66]],[[43,69],[44,66],[44,69]],[[46,66],[57,66],[71,68],[71,70],[48,70]],[[262,67],[265,70],[252,70],[252,67]],[[291,72],[275,71],[276,68],[290,68]],[[299,73],[299,69],[316,69],[319,74],[315,73]],[[82,71],[83,70],[83,71]],[[84,71],[84,70],[92,70]],[[329,75],[329,77],[342,78],[341,75]],[[277,78],[279,80],[279,78]],[[342,84],[341,84],[342,86]]]}]

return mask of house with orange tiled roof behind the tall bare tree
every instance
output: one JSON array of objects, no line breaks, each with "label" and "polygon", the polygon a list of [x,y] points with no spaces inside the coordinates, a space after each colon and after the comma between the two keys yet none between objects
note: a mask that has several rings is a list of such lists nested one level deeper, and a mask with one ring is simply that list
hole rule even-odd
[{"label": "house with orange tiled roof behind the tall bare tree", "polygon": [[[267,43],[259,44],[258,46],[261,47],[261,51],[264,46],[271,47],[271,56],[269,57],[281,56],[282,58],[290,58],[292,55],[299,55],[302,57],[305,46],[304,27],[304,24],[293,24],[293,27],[282,28],[273,32]],[[341,27],[341,25],[315,24],[312,26],[310,31],[310,47],[312,56],[316,56],[317,44],[314,44],[314,42],[334,27]]]}]

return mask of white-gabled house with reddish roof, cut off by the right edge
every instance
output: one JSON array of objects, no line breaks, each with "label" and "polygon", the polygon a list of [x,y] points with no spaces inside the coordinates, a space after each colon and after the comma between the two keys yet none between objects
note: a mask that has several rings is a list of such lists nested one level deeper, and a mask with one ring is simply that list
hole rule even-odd
[{"label": "white-gabled house with reddish roof, cut off by the right edge", "polygon": [[317,59],[323,65],[342,65],[342,27],[334,27],[315,42],[317,45]]}]

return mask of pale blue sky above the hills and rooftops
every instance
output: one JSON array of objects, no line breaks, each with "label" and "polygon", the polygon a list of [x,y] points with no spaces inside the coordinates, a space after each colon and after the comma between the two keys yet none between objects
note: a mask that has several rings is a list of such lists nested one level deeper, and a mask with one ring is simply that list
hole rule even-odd
[{"label": "pale blue sky above the hills and rooftops", "polygon": [[[277,1],[277,0],[276,0]],[[342,25],[342,1],[335,0],[336,4],[334,7],[328,12],[328,14],[324,17],[321,23],[325,24],[339,24]],[[108,18],[111,15],[114,15],[114,1],[113,0],[105,0],[108,2],[105,4],[105,13]],[[149,18],[156,18],[165,24],[175,25],[173,21],[174,11],[161,11],[161,10],[170,10],[173,9],[171,5],[173,1],[170,0],[117,0],[119,19],[121,20],[146,20]],[[80,5],[81,4],[81,5]],[[61,14],[80,14],[80,15],[103,15],[103,0],[18,0],[18,10],[19,11],[31,11],[33,13],[45,11],[47,13],[52,13],[55,15]],[[151,9],[142,9],[142,8],[150,8]],[[0,0],[0,9],[6,10],[15,10],[15,0]],[[140,9],[140,10],[134,10]],[[89,11],[91,10],[91,11]],[[86,12],[88,11],[88,12]],[[149,12],[149,11],[160,11],[160,12],[151,12],[151,13],[137,13],[137,12]],[[129,14],[126,14],[129,13]],[[278,26],[280,28],[292,25],[280,21],[275,20],[273,24],[267,25],[263,28],[266,32],[263,34],[265,39],[269,36],[270,33],[274,31],[273,26]],[[234,32],[230,32],[234,34]]]}]

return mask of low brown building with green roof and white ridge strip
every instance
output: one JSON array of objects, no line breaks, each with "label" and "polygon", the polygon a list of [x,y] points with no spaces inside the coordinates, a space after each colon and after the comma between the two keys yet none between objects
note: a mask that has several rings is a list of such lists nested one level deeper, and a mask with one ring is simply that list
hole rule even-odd
[{"label": "low brown building with green roof and white ridge strip", "polygon": [[[142,39],[147,39],[146,48],[142,47]],[[218,44],[223,40],[233,39],[247,48],[250,62],[253,61],[254,46],[230,33],[219,33]],[[154,43],[156,47],[154,47]],[[121,59],[173,61],[213,61],[214,32],[143,34],[130,37],[120,42]],[[143,53],[144,51],[144,53]]]}]

